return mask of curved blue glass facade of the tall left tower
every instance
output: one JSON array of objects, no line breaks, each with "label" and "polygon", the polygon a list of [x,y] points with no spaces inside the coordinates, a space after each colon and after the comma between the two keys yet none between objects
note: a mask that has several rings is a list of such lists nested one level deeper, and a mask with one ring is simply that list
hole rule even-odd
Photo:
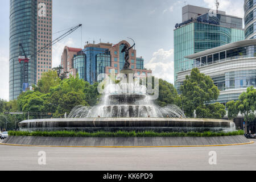
[{"label": "curved blue glass facade of the tall left tower", "polygon": [[[36,52],[36,0],[10,0],[10,60],[9,99],[15,100],[22,93],[23,64],[19,64],[19,43],[27,56]],[[36,56],[28,63],[28,84],[36,84]]]}]

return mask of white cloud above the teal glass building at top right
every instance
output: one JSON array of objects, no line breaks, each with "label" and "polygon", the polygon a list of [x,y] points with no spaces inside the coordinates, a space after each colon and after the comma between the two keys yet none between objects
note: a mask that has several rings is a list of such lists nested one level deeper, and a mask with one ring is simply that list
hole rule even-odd
[{"label": "white cloud above the teal glass building at top right", "polygon": [[[210,9],[216,9],[215,0],[204,0]],[[218,10],[226,11],[226,14],[243,18],[243,2],[234,0],[219,0],[220,7]]]}]

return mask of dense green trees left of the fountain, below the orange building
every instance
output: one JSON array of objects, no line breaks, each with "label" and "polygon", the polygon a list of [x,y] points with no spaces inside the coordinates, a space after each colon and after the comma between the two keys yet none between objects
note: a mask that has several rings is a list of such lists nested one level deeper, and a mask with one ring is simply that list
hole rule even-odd
[{"label": "dense green trees left of the fountain, below the orange building", "polygon": [[[64,117],[64,114],[77,105],[96,104],[99,94],[97,84],[90,85],[79,76],[61,80],[56,71],[44,73],[34,92],[28,91],[18,97],[18,109],[24,112],[53,113],[53,117]],[[39,118],[31,115],[31,119]],[[49,117],[49,116],[47,116]],[[24,119],[27,119],[24,116]]]}]

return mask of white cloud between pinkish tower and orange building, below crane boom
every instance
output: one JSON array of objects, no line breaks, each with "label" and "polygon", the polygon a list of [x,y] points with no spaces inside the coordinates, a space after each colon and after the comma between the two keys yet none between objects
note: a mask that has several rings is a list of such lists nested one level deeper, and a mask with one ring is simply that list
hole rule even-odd
[{"label": "white cloud between pinkish tower and orange building, below crane boom", "polygon": [[52,46],[52,67],[58,67],[61,61],[61,55],[63,53],[64,47],[73,47],[75,45],[72,38],[68,40],[57,42],[55,45]]}]

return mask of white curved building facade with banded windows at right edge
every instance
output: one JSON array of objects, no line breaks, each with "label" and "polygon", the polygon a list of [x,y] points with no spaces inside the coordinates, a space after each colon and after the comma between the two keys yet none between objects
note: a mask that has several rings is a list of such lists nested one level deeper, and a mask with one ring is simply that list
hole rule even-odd
[{"label": "white curved building facade with banded windows at right edge", "polygon": [[[256,88],[256,41],[243,40],[240,44],[249,46],[240,46],[238,43],[227,45],[226,49],[212,49],[201,52],[200,57],[193,57],[195,67],[199,68],[201,73],[209,75],[214,85],[221,91],[217,101],[226,104],[229,101],[236,101],[242,92],[250,86]],[[229,47],[229,48],[228,48]],[[207,53],[207,54],[206,54]],[[184,81],[184,73],[188,75],[190,71],[178,73],[177,90]],[[181,78],[182,77],[182,78]]]}]

